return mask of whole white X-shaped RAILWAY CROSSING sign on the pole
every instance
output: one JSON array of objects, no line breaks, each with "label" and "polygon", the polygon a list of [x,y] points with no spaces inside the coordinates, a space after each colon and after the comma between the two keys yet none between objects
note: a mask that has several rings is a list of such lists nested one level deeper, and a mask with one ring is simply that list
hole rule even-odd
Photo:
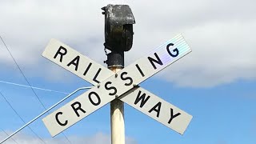
[{"label": "whole white X-shaped RAILWAY CROSSING sign on the pole", "polygon": [[50,134],[76,122],[119,98],[163,125],[183,134],[192,116],[138,86],[160,70],[191,52],[181,34],[114,73],[58,40],[51,39],[42,56],[90,82],[94,87],[43,118]]}]

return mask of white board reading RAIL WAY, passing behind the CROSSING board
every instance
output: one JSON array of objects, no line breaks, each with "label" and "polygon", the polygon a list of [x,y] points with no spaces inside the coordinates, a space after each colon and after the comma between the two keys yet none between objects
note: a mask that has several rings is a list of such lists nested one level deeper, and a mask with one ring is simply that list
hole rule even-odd
[{"label": "white board reading RAIL WAY, passing behind the CROSSING board", "polygon": [[[62,53],[66,53],[65,58],[62,58],[62,62],[60,58],[55,57],[55,55],[58,53],[59,47],[61,46],[65,47],[65,49],[62,48]],[[111,75],[115,74],[113,71],[98,64],[97,62],[92,61],[90,58],[87,58],[86,56],[80,54],[78,51],[70,48],[69,46],[66,46],[62,42],[58,42],[57,40],[51,40],[50,46],[47,47],[50,47],[50,51],[47,51],[48,53],[44,54],[46,58],[57,63],[59,66],[62,66],[66,70],[70,70],[72,73],[78,75],[78,77],[85,79],[87,82],[90,82],[93,85],[97,85],[98,82],[101,82],[102,78],[109,78]],[[80,67],[80,69],[78,70],[75,70],[74,67],[67,66],[68,63],[72,61],[72,58],[75,58],[77,56],[80,57],[81,62],[87,62],[86,65],[90,65],[90,69],[88,69],[86,65],[82,65],[84,67]],[[84,70],[86,70],[86,75],[84,75]],[[100,73],[98,73],[98,70],[100,70]],[[133,91],[132,94],[130,94],[131,91]],[[154,94],[150,94],[150,92],[143,90],[142,88],[133,88],[124,95],[134,95],[134,97],[119,97],[123,102],[126,102],[130,106],[133,106],[135,109],[142,111],[142,113],[147,114],[148,116],[154,118],[158,122],[161,122],[165,126],[176,130],[180,134],[183,134],[192,118],[189,114],[186,114],[182,110],[175,108],[175,106],[169,104],[168,102],[165,102]],[[164,103],[164,105],[166,105],[168,109],[165,109],[166,106],[162,106],[162,103]],[[166,110],[168,111],[168,113],[162,112]],[[176,114],[178,114],[178,116],[176,116]],[[167,117],[169,117],[168,120],[166,120]],[[177,125],[176,123],[174,123],[174,119],[176,122],[182,123],[182,125]]]}]

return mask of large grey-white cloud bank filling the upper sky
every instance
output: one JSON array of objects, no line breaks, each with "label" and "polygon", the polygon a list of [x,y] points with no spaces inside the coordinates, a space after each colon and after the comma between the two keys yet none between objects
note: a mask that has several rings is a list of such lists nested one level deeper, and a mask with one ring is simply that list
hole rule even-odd
[{"label": "large grey-white cloud bank filling the upper sky", "polygon": [[[157,74],[157,78],[176,86],[192,87],[255,80],[256,1],[253,0],[4,0],[0,2],[0,34],[23,69],[38,70],[33,74],[54,81],[66,71],[41,56],[50,38],[57,38],[102,63],[106,56],[100,8],[117,2],[128,3],[137,22],[134,46],[126,53],[126,66],[182,33],[192,53]],[[0,46],[0,64],[13,65],[2,43]]]}]

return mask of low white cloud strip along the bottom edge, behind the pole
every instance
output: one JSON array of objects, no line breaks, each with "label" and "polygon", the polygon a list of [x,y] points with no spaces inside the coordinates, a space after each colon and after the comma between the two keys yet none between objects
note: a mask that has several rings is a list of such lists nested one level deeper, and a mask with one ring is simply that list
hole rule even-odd
[{"label": "low white cloud strip along the bottom edge, behind the pole", "polygon": [[[0,132],[0,138],[6,138],[6,134],[3,132]],[[90,144],[110,144],[111,139],[109,134],[94,134],[91,136],[84,136],[84,137],[78,137],[78,136],[70,136],[68,137],[71,143],[90,143]],[[43,142],[46,142],[47,144],[59,144],[59,143],[69,143],[67,142],[66,138],[42,138]],[[17,134],[14,135],[13,139],[9,139],[5,142],[5,144],[40,144],[42,141],[39,138],[32,137],[28,134]],[[126,138],[126,144],[137,144],[137,142],[133,138]]]}]

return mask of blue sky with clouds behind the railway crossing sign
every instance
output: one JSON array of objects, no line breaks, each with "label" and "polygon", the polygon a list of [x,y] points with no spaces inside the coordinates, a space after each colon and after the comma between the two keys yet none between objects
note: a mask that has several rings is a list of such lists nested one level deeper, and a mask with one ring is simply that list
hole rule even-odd
[{"label": "blue sky with clouds behind the railway crossing sign", "polygon": [[[178,33],[183,34],[193,50],[140,85],[193,115],[185,134],[180,135],[126,105],[127,144],[256,143],[253,1],[4,0],[0,2],[0,34],[32,86],[70,93],[90,84],[42,58],[42,51],[50,38],[57,38],[104,65],[104,18],[100,8],[109,3],[129,4],[137,22],[134,47],[126,53],[126,66]],[[27,85],[2,42],[0,66],[1,81]],[[44,110],[30,88],[0,82],[0,90],[26,122]],[[66,96],[43,90],[35,92],[46,107]],[[10,134],[24,123],[2,97],[0,102],[0,128]],[[51,138],[41,118],[30,127],[47,143],[65,142],[62,134]],[[73,143],[110,143],[110,106],[102,107],[64,133]],[[5,137],[0,130],[0,138]],[[29,129],[14,136],[18,143],[40,143],[34,138]]]}]

